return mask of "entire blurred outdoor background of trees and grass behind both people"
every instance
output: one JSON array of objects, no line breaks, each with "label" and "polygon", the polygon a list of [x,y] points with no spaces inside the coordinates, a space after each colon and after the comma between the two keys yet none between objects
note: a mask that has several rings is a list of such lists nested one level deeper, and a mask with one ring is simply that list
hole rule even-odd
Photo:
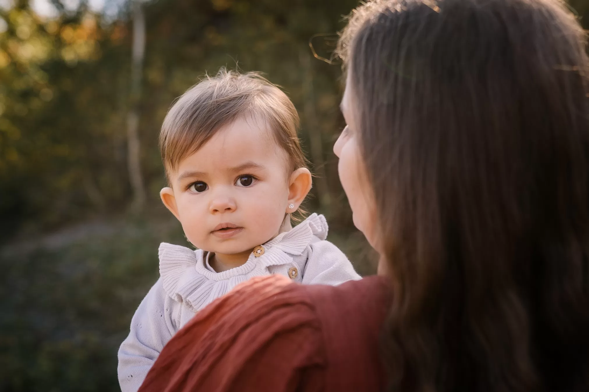
[{"label": "entire blurred outdoor background of trees and grass behind both people", "polygon": [[[343,84],[328,60],[357,4],[0,0],[0,391],[118,390],[158,244],[188,245],[158,198],[161,121],[221,66],[263,71],[292,98],[316,174],[307,209],[373,273],[332,152]],[[589,0],[572,6],[583,16]]]}]

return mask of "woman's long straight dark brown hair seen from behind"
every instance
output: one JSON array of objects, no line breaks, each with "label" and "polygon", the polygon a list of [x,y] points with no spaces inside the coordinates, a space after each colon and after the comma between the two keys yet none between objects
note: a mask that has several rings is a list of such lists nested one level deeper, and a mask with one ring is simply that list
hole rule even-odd
[{"label": "woman's long straight dark brown hair seen from behind", "polygon": [[589,390],[585,35],[555,0],[360,6],[340,50],[392,391]]}]

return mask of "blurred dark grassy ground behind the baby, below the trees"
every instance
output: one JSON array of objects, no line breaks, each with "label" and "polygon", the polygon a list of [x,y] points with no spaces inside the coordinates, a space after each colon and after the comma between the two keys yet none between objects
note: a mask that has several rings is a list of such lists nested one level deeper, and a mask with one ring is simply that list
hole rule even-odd
[{"label": "blurred dark grassy ground behind the baby, below the trees", "polygon": [[[373,273],[376,258],[361,233],[330,228],[328,239],[359,273]],[[186,244],[176,220],[154,214],[5,247],[0,391],[118,391],[118,346],[158,278],[162,241]]]}]

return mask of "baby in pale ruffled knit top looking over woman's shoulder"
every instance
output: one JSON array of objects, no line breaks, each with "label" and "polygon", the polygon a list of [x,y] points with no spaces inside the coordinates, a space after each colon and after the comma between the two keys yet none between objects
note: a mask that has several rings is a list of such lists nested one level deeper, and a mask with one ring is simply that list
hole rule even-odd
[{"label": "baby in pale ruffled knit top looking over woman's shoulder", "polygon": [[197,250],[160,245],[160,279],[118,351],[123,392],[138,390],[161,349],[197,311],[251,277],[283,274],[331,285],[360,278],[325,240],[323,215],[290,225],[311,188],[298,122],[275,85],[224,69],[171,107],[160,134],[170,187],[160,195]]}]

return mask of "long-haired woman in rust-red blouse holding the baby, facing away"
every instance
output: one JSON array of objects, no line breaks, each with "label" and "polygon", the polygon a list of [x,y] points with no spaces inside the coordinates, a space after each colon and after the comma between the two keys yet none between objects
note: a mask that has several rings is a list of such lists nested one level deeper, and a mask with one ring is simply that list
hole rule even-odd
[{"label": "long-haired woman in rust-red blouse holding the baby, facing away", "polygon": [[589,390],[589,90],[556,0],[375,1],[335,145],[381,277],[250,281],[141,391]]}]

